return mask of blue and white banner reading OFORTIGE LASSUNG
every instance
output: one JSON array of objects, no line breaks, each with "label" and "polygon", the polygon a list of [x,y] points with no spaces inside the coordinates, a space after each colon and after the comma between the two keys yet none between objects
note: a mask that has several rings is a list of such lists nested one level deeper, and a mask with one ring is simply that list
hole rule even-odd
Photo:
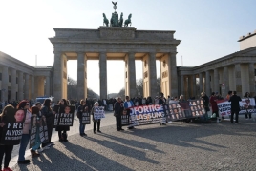
[{"label": "blue and white banner reading OFORTIGE LASSUNG", "polygon": [[142,105],[130,108],[130,119],[134,125],[166,123],[163,105]]}]

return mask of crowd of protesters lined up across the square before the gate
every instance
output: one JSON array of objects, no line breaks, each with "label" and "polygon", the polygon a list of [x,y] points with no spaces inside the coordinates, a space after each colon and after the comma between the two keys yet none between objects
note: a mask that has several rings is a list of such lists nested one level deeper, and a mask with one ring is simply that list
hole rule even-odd
[{"label": "crowd of protesters lined up across the square before the gate", "polygon": [[[250,94],[246,92],[244,97],[249,98]],[[195,98],[190,98],[190,99],[195,99]],[[235,115],[235,123],[239,123],[238,114],[240,111],[239,102],[241,101],[241,98],[237,96],[236,91],[229,91],[225,98],[223,98],[218,92],[211,93],[210,97],[208,97],[205,94],[205,92],[202,92],[201,99],[203,100],[203,106],[206,111],[206,114],[208,111],[210,111],[210,107],[211,107],[212,113],[214,113],[217,118],[219,118],[219,109],[218,109],[217,101],[223,100],[223,99],[228,100],[229,102],[231,102],[230,122],[233,123],[233,118]],[[36,116],[38,120],[41,118],[46,120],[47,128],[48,128],[48,142],[42,143],[40,142],[40,138],[39,138],[39,127],[36,127],[35,143],[31,149],[31,155],[32,155],[32,158],[34,158],[34,157],[40,156],[40,152],[42,152],[43,150],[49,149],[52,145],[54,145],[54,143],[51,142],[52,133],[53,133],[54,115],[56,113],[70,112],[70,105],[74,105],[77,111],[77,118],[79,119],[79,123],[80,123],[79,125],[80,136],[87,136],[85,134],[86,124],[82,123],[82,115],[83,113],[94,115],[94,111],[97,106],[104,106],[105,110],[114,111],[114,116],[116,117],[117,131],[123,131],[124,129],[122,128],[122,125],[121,125],[121,116],[123,112],[129,113],[130,107],[139,106],[139,105],[150,105],[150,104],[172,104],[172,103],[181,104],[186,101],[187,100],[184,99],[183,95],[181,95],[179,98],[170,97],[170,96],[165,98],[163,93],[160,93],[160,97],[156,96],[154,99],[151,97],[130,98],[129,96],[126,96],[125,100],[122,100],[121,98],[117,98],[117,99],[111,98],[111,99],[102,99],[102,100],[81,99],[80,101],[75,101],[75,100],[68,101],[66,99],[61,99],[56,103],[59,105],[58,111],[54,111],[52,107],[52,102],[50,99],[46,99],[43,104],[40,104],[40,103],[34,104],[33,101],[28,101],[28,100],[23,100],[20,102],[12,101],[10,103],[0,102],[0,110],[1,111],[3,110],[3,112],[0,115],[0,137],[2,136],[3,127],[5,125],[4,118],[9,114],[9,108],[12,107],[16,109],[25,110],[26,119],[23,126],[23,134],[20,142],[19,157],[17,162],[19,164],[29,164],[30,160],[25,159],[25,150],[30,141],[32,116]],[[245,118],[251,119],[251,114],[247,112],[245,114]],[[93,117],[93,122],[94,122],[94,129],[93,129],[94,133],[96,134],[96,131],[98,133],[101,133],[100,119],[95,120]],[[134,126],[130,125],[128,126],[128,128],[133,129]],[[70,130],[69,126],[56,126],[55,130],[58,131],[59,142],[68,142],[67,131]],[[0,142],[1,162],[5,155],[3,171],[11,171],[11,168],[9,168],[8,166],[11,160],[12,149],[13,149],[13,145],[2,145]]]}]

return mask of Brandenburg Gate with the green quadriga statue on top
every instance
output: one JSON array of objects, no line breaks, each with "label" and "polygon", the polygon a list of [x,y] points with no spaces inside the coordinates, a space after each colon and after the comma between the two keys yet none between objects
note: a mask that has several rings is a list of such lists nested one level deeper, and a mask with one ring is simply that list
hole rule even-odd
[{"label": "Brandenburg Gate with the green quadriga statue on top", "polygon": [[[117,3],[114,7],[116,5]],[[137,30],[129,27],[128,20],[131,19],[131,14],[122,25],[122,13],[118,20],[116,11],[112,13],[108,26],[105,14],[103,16],[106,26],[97,29],[54,28],[55,36],[50,38],[50,41],[54,47],[55,99],[67,98],[68,60],[77,60],[78,99],[87,97],[87,73],[94,72],[87,70],[88,60],[99,60],[101,99],[107,98],[107,60],[125,62],[125,94],[130,97],[137,96],[135,60],[141,60],[143,63],[144,97],[154,97],[159,93],[156,88],[156,60],[160,60],[161,91],[165,96],[178,96],[176,54],[181,41],[174,38],[175,31]]]}]

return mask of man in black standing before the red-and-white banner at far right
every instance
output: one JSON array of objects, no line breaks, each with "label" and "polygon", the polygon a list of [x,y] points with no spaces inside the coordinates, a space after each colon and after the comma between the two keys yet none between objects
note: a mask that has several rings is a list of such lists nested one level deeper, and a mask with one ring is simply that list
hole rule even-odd
[{"label": "man in black standing before the red-and-white banner at far right", "polygon": [[239,102],[242,101],[239,96],[237,96],[237,92],[233,91],[233,95],[230,97],[228,102],[231,102],[231,118],[230,122],[233,123],[234,121],[234,114],[236,114],[236,123],[238,122],[238,114],[240,111],[240,104]]}]

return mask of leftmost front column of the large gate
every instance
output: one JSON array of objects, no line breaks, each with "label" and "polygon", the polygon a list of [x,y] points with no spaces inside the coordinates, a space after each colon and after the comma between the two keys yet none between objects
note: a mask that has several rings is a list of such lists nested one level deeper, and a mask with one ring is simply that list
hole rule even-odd
[{"label": "leftmost front column of the large gate", "polygon": [[[62,53],[59,51],[54,51],[54,101],[57,102],[62,98],[62,80],[63,80],[63,66],[62,66]],[[37,79],[36,79],[37,80]]]}]

